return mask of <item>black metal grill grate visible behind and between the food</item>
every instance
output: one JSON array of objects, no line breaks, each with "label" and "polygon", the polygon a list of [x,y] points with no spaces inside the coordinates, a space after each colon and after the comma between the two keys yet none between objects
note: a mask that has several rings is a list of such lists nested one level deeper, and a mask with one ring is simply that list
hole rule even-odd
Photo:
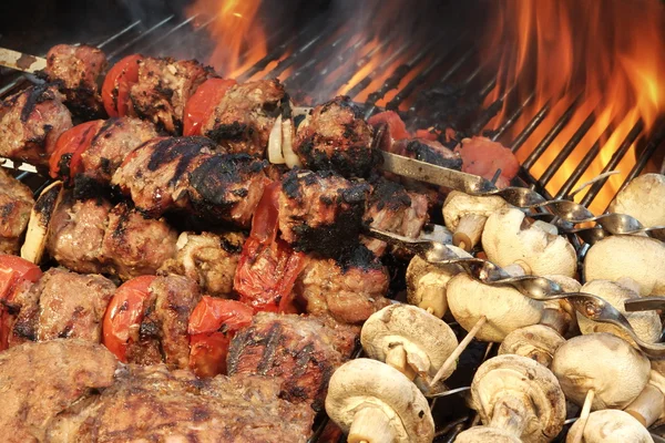
[{"label": "black metal grill grate visible behind and between the food", "polygon": [[[80,43],[103,49],[110,64],[131,53],[205,61],[212,50],[206,30],[214,20],[214,16],[203,14],[187,18],[178,14],[153,17],[147,21],[126,22],[110,35],[95,35]],[[268,32],[267,54],[245,66],[237,80],[279,78],[286,89],[294,93],[294,99],[305,103],[317,103],[341,91],[362,106],[366,117],[386,109],[397,110],[415,127],[443,123],[468,135],[485,134],[492,141],[510,147],[513,153],[523,154],[514,185],[531,187],[545,198],[566,198],[590,165],[600,161],[604,142],[614,128],[610,126],[605,130],[584,153],[564,184],[553,189],[549,186],[552,178],[579,147],[595,117],[591,114],[577,127],[570,127],[580,100],[573,101],[556,119],[552,119],[554,106],[548,102],[525,124],[520,123],[521,127],[516,127],[519,122],[523,122],[521,117],[534,102],[535,94],[518,100],[515,90],[509,89],[497,100],[489,101],[488,96],[497,86],[493,61],[479,62],[479,43],[458,28],[441,27],[441,33],[424,44],[409,44],[399,41],[396,35],[374,44],[369,35],[358,35],[350,21],[319,14],[295,32],[290,24]],[[195,49],[194,52],[192,49]],[[338,65],[346,68],[337,70]],[[31,75],[0,70],[0,97],[35,81],[39,80]],[[503,119],[492,122],[504,105],[508,112]],[[564,130],[572,130],[573,135],[560,148],[553,142]],[[544,136],[533,140],[543,132]],[[656,164],[656,157],[665,148],[665,121],[658,121],[648,137],[644,134],[644,122],[638,121],[618,143],[611,158],[603,163],[602,173],[616,169],[634,144],[637,155],[630,171],[621,175],[623,186],[646,171],[663,172],[663,167]],[[524,153],[528,141],[535,147]],[[553,161],[536,176],[534,165],[546,154]],[[48,178],[37,175],[30,166],[21,166],[21,169],[16,171],[17,177],[31,186],[35,196],[49,184]],[[577,200],[587,207],[594,204],[606,182],[607,177],[604,177],[593,183],[580,193]],[[608,203],[604,202],[603,205]],[[577,253],[583,255],[584,244],[576,241],[574,245]],[[461,370],[448,380],[452,390],[446,396],[432,400],[432,413],[437,421],[436,441],[453,441],[459,432],[479,421],[464,405],[464,387],[469,385],[475,368],[492,351],[495,352],[495,349],[491,343],[472,343],[462,357]],[[311,442],[318,441],[325,424],[325,418],[317,422]]]}]

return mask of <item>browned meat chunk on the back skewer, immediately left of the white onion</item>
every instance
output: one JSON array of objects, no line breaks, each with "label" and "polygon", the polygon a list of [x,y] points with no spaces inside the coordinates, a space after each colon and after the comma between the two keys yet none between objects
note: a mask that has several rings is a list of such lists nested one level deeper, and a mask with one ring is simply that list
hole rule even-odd
[{"label": "browned meat chunk on the back skewer, immediately left of the white onion", "polygon": [[263,158],[278,115],[290,117],[288,95],[279,80],[259,80],[232,86],[214,112],[203,122],[201,133],[231,153]]}]

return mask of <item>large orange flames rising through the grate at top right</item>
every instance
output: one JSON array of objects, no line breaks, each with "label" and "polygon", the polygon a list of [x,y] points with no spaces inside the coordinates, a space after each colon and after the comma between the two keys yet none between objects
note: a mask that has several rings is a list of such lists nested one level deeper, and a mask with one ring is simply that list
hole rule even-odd
[{"label": "large orange flames rising through the grate at top right", "polygon": [[[512,104],[534,94],[513,126],[514,137],[549,103],[545,121],[516,153],[524,162],[580,97],[569,124],[530,169],[542,178],[586,123],[587,132],[579,133],[582,137],[571,155],[556,173],[545,176],[548,190],[556,195],[591,150],[600,146],[598,155],[576,185],[603,172],[635,125],[644,125],[644,134],[648,134],[664,114],[665,7],[658,0],[504,0],[501,4],[497,28],[491,32],[490,54],[501,52],[502,74],[485,104],[513,90],[516,100],[505,100],[489,127],[498,127]],[[632,143],[615,167],[621,174],[611,177],[593,200],[593,212],[605,209],[635,162]],[[575,200],[582,200],[584,195],[585,190],[581,192]]]}]

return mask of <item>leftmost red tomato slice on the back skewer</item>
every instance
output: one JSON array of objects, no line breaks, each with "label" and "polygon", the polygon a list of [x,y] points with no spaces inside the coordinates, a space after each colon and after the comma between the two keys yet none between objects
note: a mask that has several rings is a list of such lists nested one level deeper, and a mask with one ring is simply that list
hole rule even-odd
[{"label": "leftmost red tomato slice on the back skewer", "polygon": [[143,55],[127,55],[113,65],[102,84],[102,102],[110,117],[124,117],[130,110],[130,91],[139,82],[139,62]]}]

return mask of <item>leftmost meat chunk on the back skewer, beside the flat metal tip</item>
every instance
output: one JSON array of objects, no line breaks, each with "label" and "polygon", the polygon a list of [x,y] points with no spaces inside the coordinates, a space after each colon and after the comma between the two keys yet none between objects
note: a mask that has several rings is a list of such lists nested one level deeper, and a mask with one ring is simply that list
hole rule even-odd
[{"label": "leftmost meat chunk on the back skewer, beside the flat metal tip", "polygon": [[58,44],[47,54],[45,73],[58,84],[75,114],[92,119],[102,110],[98,78],[106,64],[106,55],[96,48]]}]

